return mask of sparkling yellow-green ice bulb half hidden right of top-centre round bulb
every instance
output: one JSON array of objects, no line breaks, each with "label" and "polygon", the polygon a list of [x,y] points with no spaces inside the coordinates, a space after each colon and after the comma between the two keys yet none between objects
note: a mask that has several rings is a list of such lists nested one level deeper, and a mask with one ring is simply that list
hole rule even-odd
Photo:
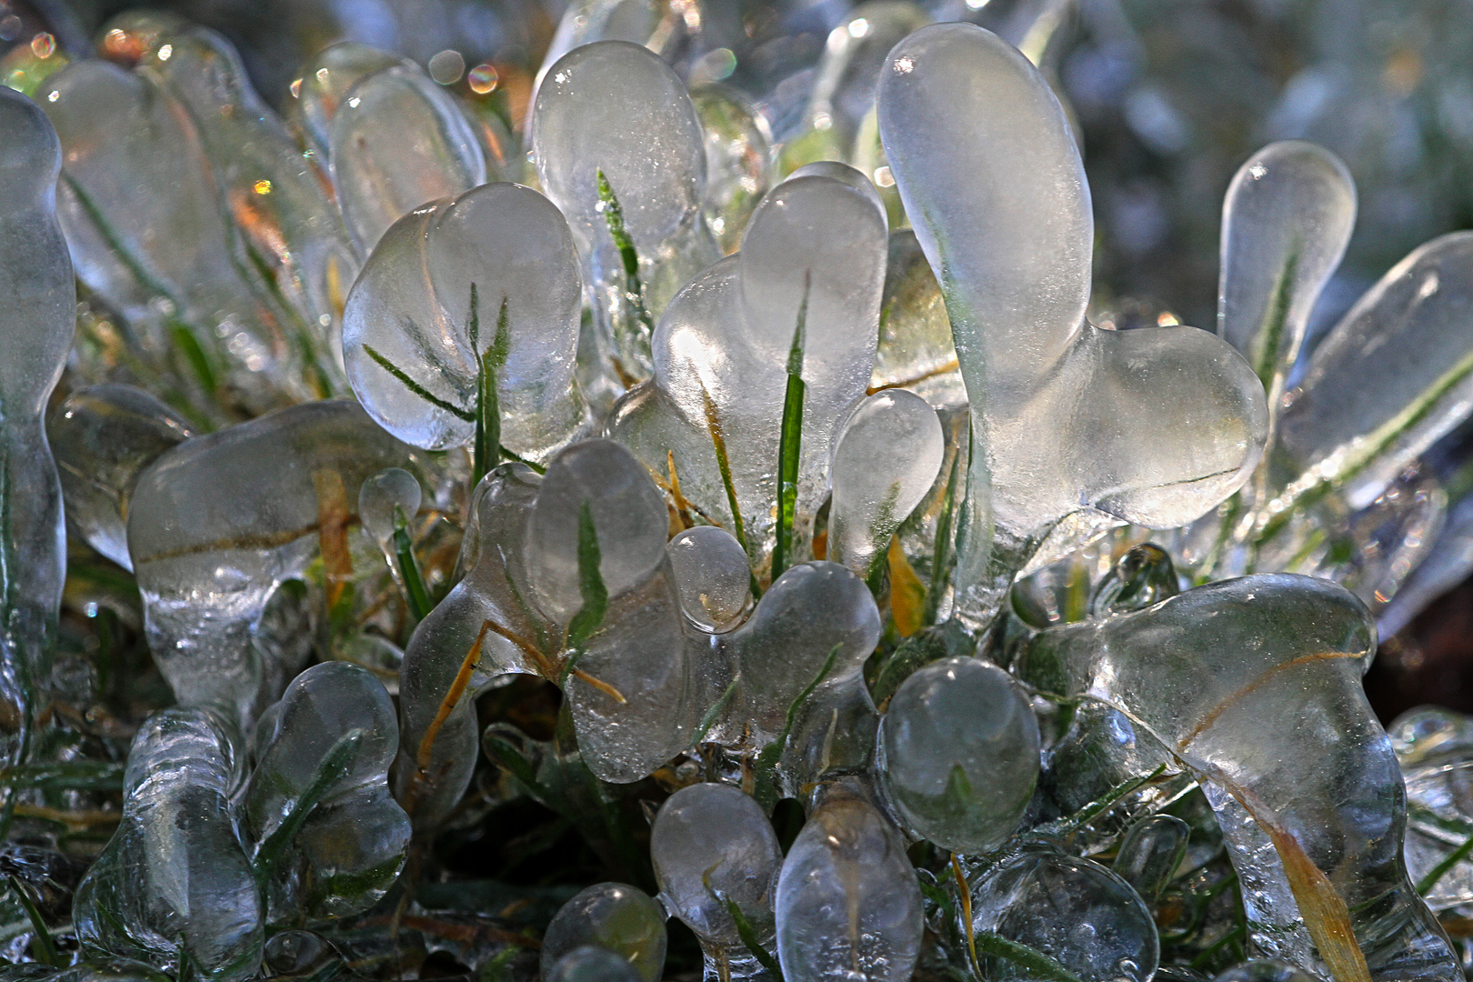
[{"label": "sparkling yellow-green ice bulb half hidden right of top-centre round bulb", "polygon": [[745,96],[710,82],[691,88],[706,131],[706,193],[701,211],[722,255],[741,246],[753,209],[772,186],[772,130]]}]

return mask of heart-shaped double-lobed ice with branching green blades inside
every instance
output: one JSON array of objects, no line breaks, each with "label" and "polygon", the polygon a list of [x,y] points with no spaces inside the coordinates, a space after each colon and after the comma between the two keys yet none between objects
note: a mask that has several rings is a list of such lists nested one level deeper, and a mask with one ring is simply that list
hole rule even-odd
[{"label": "heart-shaped double-lobed ice with branching green blades inside", "polygon": [[482,184],[423,202],[374,246],[343,312],[348,378],[407,443],[465,446],[495,415],[501,445],[545,461],[589,428],[580,311],[558,209],[520,184]]}]

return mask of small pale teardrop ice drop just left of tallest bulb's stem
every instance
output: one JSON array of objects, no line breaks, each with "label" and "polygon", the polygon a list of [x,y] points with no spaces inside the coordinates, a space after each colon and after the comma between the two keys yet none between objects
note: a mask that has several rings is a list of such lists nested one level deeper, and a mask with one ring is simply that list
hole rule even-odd
[{"label": "small pale teardrop ice drop just left of tallest bulb's stem", "polygon": [[944,455],[941,421],[921,396],[891,389],[860,402],[829,470],[829,561],[869,576],[931,490]]}]

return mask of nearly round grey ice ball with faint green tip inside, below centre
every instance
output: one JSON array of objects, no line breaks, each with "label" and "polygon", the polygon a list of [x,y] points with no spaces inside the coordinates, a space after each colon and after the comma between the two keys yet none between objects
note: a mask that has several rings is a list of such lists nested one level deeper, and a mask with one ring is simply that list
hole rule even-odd
[{"label": "nearly round grey ice ball with faint green tip inside, below centre", "polygon": [[1038,721],[1012,676],[934,661],[896,690],[879,733],[881,777],[910,829],[953,852],[1012,835],[1038,779]]}]

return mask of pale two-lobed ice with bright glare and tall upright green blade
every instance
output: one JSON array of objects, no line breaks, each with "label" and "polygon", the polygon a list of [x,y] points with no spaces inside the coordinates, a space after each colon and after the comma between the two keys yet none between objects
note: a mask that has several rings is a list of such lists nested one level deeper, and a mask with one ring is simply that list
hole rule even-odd
[{"label": "pale two-lobed ice with bright glare and tall upright green blade", "polygon": [[788,555],[806,558],[838,430],[875,359],[885,218],[863,175],[826,168],[775,187],[741,252],[670,303],[654,336],[654,380],[608,423],[610,436],[657,474],[673,462],[685,498],[734,531],[759,570],[778,534],[772,502],[788,380],[804,384]]}]

